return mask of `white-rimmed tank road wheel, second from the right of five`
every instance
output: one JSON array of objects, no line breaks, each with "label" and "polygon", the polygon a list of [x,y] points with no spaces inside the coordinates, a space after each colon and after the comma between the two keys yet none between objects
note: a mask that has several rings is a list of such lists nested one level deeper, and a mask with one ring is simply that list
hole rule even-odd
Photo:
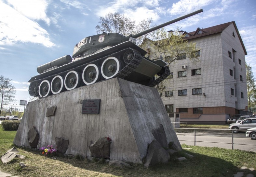
[{"label": "white-rimmed tank road wheel, second from the right of five", "polygon": [[88,64],[83,70],[82,79],[86,85],[93,84],[100,79],[100,69],[95,64]]}]

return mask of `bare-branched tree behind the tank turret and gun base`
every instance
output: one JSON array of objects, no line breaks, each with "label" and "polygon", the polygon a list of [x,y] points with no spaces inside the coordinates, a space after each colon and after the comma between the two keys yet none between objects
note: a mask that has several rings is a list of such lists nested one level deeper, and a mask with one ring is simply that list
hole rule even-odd
[{"label": "bare-branched tree behind the tank turret and gun base", "polygon": [[[152,19],[144,19],[141,20],[138,25],[136,25],[135,20],[131,20],[128,17],[125,17],[124,14],[120,12],[108,13],[105,17],[100,17],[100,25],[97,25],[96,33],[100,34],[103,32],[107,33],[119,33],[124,36],[128,36],[130,34],[136,34],[138,32],[144,31],[146,29],[154,27],[152,25]],[[150,38],[153,33],[145,34],[141,37],[137,38],[137,43],[141,44],[141,42],[145,38]]]}]

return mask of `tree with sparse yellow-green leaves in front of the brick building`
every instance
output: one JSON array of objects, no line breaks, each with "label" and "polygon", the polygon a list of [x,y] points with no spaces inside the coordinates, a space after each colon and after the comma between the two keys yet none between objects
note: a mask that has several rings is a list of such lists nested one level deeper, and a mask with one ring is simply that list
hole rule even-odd
[{"label": "tree with sparse yellow-green leaves in front of the brick building", "polygon": [[[147,39],[141,44],[145,50],[149,51],[148,58],[152,60],[162,58],[168,63],[168,67],[184,58],[189,58],[192,62],[199,61],[200,50],[195,45],[196,43],[185,40],[185,35],[180,34],[179,28],[171,33],[167,33],[165,28],[158,29],[154,32],[152,39]],[[156,86],[160,96],[163,95],[166,82],[164,80]]]}]

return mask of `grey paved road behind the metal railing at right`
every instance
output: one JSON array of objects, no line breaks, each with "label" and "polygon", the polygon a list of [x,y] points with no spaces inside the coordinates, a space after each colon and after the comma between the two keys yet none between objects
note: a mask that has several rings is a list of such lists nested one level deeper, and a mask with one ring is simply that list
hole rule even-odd
[{"label": "grey paved road behind the metal railing at right", "polygon": [[[232,134],[229,133],[176,133],[181,144],[232,149]],[[194,141],[195,140],[195,141]],[[247,138],[245,132],[234,135],[233,148],[256,152],[256,140]]]}]

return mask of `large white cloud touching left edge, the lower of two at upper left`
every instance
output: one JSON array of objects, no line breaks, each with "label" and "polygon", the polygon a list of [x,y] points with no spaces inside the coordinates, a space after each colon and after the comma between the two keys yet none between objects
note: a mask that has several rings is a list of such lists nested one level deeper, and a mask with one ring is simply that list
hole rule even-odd
[{"label": "large white cloud touching left edge, the lower of two at upper left", "polygon": [[0,1],[0,45],[32,42],[52,47],[47,31],[38,23]]}]

